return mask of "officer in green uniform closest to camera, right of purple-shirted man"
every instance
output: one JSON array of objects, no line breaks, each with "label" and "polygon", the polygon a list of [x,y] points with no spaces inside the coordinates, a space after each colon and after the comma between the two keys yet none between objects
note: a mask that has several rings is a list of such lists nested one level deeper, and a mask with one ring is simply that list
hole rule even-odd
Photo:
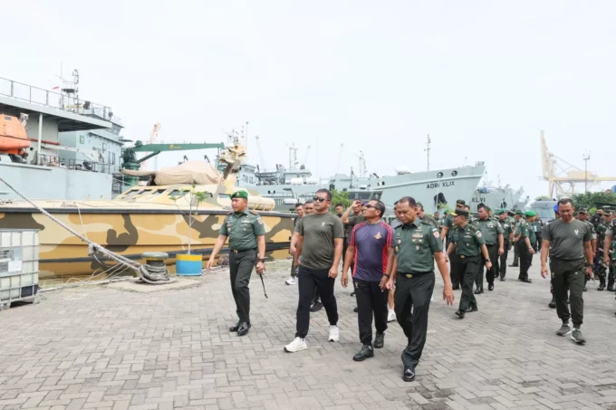
[{"label": "officer in green uniform closest to camera, right of purple-shirted man", "polygon": [[395,256],[385,288],[391,290],[394,282],[396,284],[396,317],[408,339],[407,348],[402,351],[402,378],[410,382],[415,379],[415,367],[426,344],[428,309],[435,284],[435,260],[443,277],[443,300],[447,300],[448,305],[454,302],[454,291],[437,227],[419,220],[416,214],[418,206],[410,196],[400,199],[397,209],[402,224],[394,232]]}]

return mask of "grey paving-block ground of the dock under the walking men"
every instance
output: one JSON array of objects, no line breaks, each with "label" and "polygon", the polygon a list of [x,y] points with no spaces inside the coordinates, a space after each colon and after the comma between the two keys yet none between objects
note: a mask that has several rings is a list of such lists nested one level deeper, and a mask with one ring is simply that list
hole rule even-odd
[{"label": "grey paving-block ground of the dock under the walking men", "polygon": [[[239,338],[228,272],[196,288],[151,294],[101,286],[45,293],[38,305],[0,312],[0,410],[186,409],[614,409],[616,300],[589,283],[585,346],[554,332],[550,285],[538,261],[533,283],[507,281],[456,319],[438,273],[428,342],[417,379],[400,378],[406,345],[390,323],[385,348],[361,363],[354,298],[336,284],[341,339],[327,341],[325,312],[312,314],[308,349],[294,338],[297,286],[288,262],[251,281],[252,324]],[[459,300],[460,291],[455,291]],[[457,300],[456,305],[457,306]]]}]

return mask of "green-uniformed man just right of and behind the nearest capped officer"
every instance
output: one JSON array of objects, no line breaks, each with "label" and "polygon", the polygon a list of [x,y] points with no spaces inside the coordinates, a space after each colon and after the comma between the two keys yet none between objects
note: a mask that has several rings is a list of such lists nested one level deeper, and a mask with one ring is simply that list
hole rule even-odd
[{"label": "green-uniformed man just right of and behind the nearest capped officer", "polygon": [[[492,268],[486,271],[487,290],[494,290],[494,279],[498,277],[498,257],[505,253],[503,227],[498,224],[496,219],[492,219],[489,215],[490,208],[485,204],[479,204],[477,206],[477,214],[479,218],[473,221],[475,226],[484,237],[486,241],[487,254],[490,256],[490,262],[492,262]],[[484,292],[484,267],[483,264],[486,261],[482,261],[479,265],[475,277],[476,291],[475,294]]]}]

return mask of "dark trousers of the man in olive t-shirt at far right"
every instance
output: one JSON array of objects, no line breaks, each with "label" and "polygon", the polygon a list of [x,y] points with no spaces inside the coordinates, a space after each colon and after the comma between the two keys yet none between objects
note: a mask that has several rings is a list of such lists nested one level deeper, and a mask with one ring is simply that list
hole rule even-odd
[{"label": "dark trousers of the man in olive t-shirt at far right", "polygon": [[[552,258],[550,260],[550,270],[552,272],[553,293],[556,300],[556,314],[566,323],[571,318],[573,328],[582,326],[584,317],[584,260],[576,259],[566,261],[564,259]],[[569,301],[571,313],[567,306],[567,291],[569,291]]]}]

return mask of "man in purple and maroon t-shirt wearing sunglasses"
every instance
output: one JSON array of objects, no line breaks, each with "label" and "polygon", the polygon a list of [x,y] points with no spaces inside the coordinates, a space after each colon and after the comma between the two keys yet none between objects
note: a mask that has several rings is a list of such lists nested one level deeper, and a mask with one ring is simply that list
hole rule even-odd
[{"label": "man in purple and maroon t-shirt wearing sunglasses", "polygon": [[[374,356],[373,348],[382,348],[387,329],[387,300],[389,291],[384,289],[388,281],[387,264],[393,254],[393,229],[380,220],[385,205],[370,201],[363,210],[364,222],[355,225],[351,231],[342,268],[342,286],[349,284],[349,269],[352,268],[357,297],[358,323],[360,327],[361,350],[353,360],[362,361]],[[372,316],[377,335],[372,345]]]}]

